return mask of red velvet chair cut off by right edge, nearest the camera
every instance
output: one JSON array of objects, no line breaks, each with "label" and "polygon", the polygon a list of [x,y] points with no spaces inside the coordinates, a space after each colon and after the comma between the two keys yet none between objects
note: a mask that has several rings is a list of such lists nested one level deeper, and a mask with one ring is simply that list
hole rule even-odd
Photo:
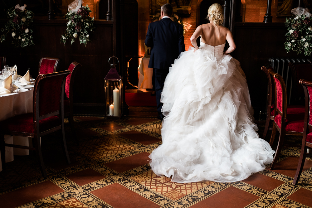
[{"label": "red velvet chair cut off by right edge, nearest the camera", "polygon": [[310,132],[310,129],[312,129],[312,111],[310,110],[312,109],[312,82],[302,79],[299,80],[299,83],[303,86],[305,92],[305,120],[303,126],[303,137],[302,137],[300,159],[293,181],[294,185],[296,185],[299,181],[303,166],[305,164],[307,149],[310,148],[311,151],[312,148],[312,132]]}]

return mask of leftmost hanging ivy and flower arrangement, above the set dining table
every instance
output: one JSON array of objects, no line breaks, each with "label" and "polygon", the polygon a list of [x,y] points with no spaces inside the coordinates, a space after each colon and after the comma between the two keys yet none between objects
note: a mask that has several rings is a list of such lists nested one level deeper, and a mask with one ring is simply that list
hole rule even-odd
[{"label": "leftmost hanging ivy and flower arrangement, above the set dining table", "polygon": [[12,7],[7,10],[9,21],[5,23],[4,28],[1,28],[1,31],[4,32],[0,37],[1,42],[5,41],[8,34],[11,34],[13,37],[12,44],[15,48],[35,45],[32,36],[29,35],[32,33],[29,26],[32,23],[34,13],[26,10],[25,7],[27,7],[26,4],[22,7],[17,4],[15,8]]}]

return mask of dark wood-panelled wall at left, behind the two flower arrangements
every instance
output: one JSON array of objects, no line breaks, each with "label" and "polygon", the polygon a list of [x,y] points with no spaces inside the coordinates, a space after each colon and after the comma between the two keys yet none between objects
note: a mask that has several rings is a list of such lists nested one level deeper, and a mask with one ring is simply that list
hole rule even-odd
[{"label": "dark wood-panelled wall at left, behind the two flower arrangements", "polygon": [[[5,20],[0,22],[3,27]],[[35,46],[13,48],[11,39],[0,44],[0,54],[7,56],[7,65],[17,65],[17,73],[24,75],[28,68],[33,78],[38,75],[41,57],[61,59],[59,70],[66,70],[72,61],[82,67],[77,71],[74,87],[74,103],[105,105],[104,78],[110,69],[108,59],[116,56],[114,44],[114,22],[95,20],[95,31],[90,34],[90,42],[85,47],[76,40],[60,43],[66,31],[67,20],[34,20],[33,37]],[[77,38],[78,39],[78,38]]]}]

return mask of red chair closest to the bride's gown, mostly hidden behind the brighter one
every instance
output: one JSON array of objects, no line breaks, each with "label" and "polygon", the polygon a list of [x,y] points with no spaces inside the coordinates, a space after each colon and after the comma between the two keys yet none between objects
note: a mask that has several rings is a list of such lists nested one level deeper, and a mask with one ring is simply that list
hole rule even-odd
[{"label": "red chair closest to the bride's gown, mostly hidden behind the brighter one", "polygon": [[[266,77],[268,79],[268,95],[267,95],[267,109],[266,109],[266,125],[264,127],[264,132],[262,135],[262,138],[266,138],[266,134],[268,130],[272,130],[272,128],[269,128],[271,126],[271,123],[274,120],[274,109],[275,109],[275,82],[273,76],[268,72],[268,70],[274,71],[272,66],[270,64],[267,64],[266,66],[262,66],[262,71],[266,73]],[[302,118],[305,114],[305,107],[300,105],[287,105],[287,114],[302,114]],[[271,146],[273,144],[270,143]]]}]

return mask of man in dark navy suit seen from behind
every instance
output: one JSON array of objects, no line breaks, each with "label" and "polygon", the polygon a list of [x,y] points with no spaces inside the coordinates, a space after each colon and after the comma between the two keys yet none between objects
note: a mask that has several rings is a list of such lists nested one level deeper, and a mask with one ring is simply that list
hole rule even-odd
[{"label": "man in dark navy suit seen from behind", "polygon": [[171,20],[173,8],[170,4],[164,4],[160,10],[160,21],[149,23],[147,29],[145,45],[151,47],[151,57],[149,59],[149,68],[153,68],[155,76],[155,89],[158,119],[163,120],[160,102],[160,94],[169,67],[178,58],[179,54],[185,51],[183,26]]}]

